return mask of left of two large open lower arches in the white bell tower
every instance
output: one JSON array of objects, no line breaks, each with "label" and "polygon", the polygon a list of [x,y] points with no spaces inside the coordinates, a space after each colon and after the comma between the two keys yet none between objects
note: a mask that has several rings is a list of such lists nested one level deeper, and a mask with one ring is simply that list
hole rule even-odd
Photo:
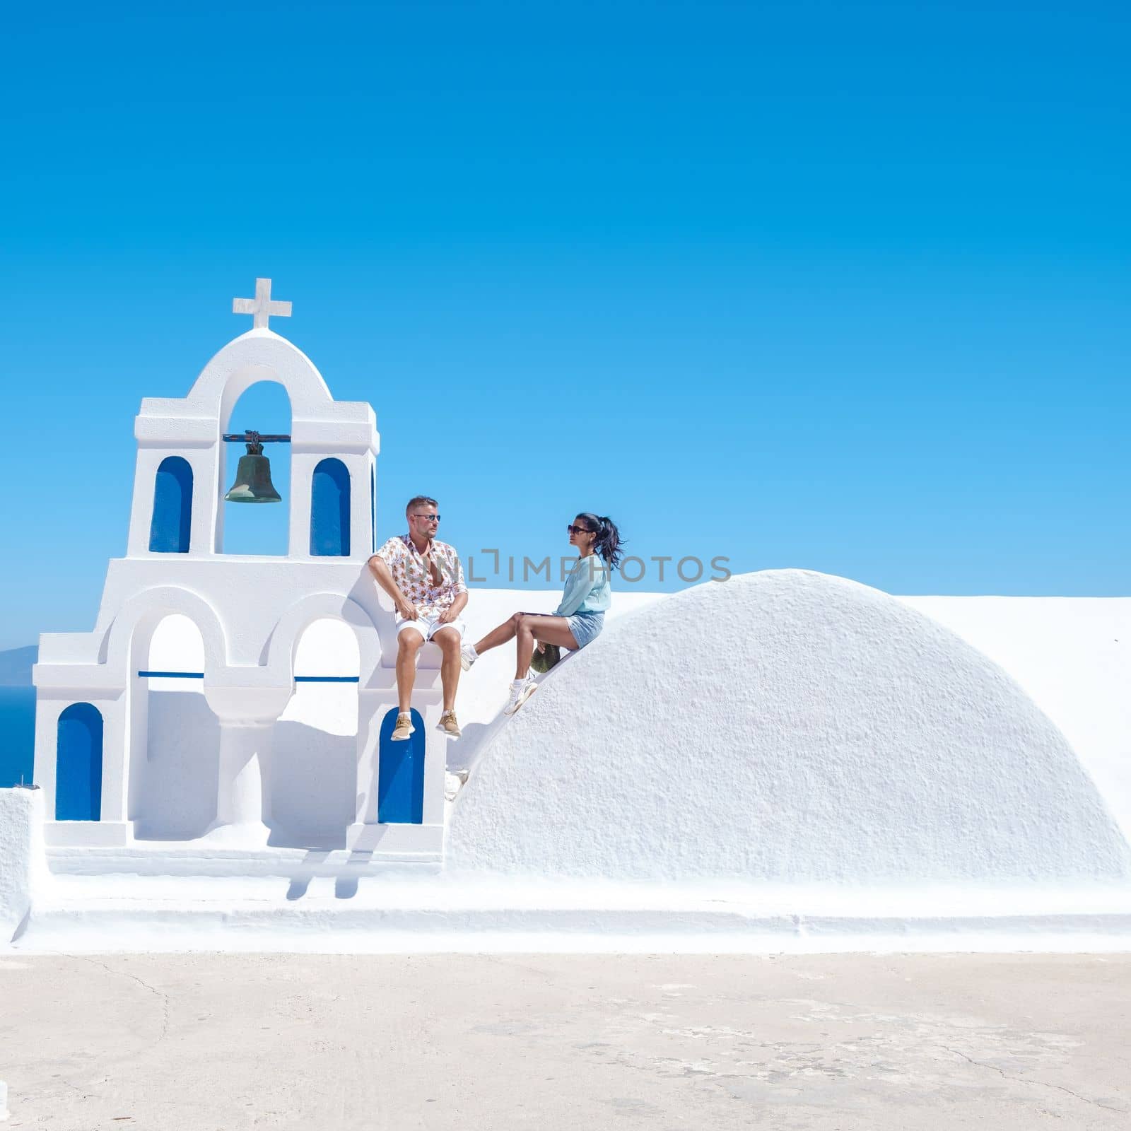
[{"label": "left of two large open lower arches in the white bell tower", "polygon": [[196,622],[170,613],[135,639],[129,815],[135,835],[191,840],[216,815],[219,720],[204,694],[205,644]]}]

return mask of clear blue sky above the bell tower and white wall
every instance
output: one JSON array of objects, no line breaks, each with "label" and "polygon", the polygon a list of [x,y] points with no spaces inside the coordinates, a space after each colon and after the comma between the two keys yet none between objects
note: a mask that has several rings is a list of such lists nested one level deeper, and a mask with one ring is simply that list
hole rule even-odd
[{"label": "clear blue sky above the bell tower and white wall", "polygon": [[0,647],[93,625],[140,398],[257,275],[377,409],[382,534],[423,490],[465,554],[592,508],[646,559],[1129,592],[1125,6],[6,20]]}]

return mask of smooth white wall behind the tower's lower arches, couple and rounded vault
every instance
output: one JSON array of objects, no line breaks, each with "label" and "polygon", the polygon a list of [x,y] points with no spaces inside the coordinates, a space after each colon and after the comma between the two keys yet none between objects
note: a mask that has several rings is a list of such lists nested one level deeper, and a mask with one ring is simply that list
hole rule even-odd
[{"label": "smooth white wall behind the tower's lower arches, couple and rounded vault", "polygon": [[[466,611],[468,638],[481,637],[518,608],[550,611],[559,597],[556,589],[473,589]],[[675,595],[621,587],[610,614],[610,631],[625,615],[672,599]],[[1004,668],[1070,740],[1124,834],[1131,829],[1131,719],[1122,692],[1131,680],[1131,649],[1121,650],[1119,644],[1121,638],[1131,640],[1131,599],[892,599],[929,614]],[[342,621],[316,621],[300,638],[295,672],[356,674],[356,644],[351,631]],[[164,620],[154,632],[148,666],[195,671],[201,665],[202,644],[193,623],[178,615]],[[508,645],[483,656],[463,675],[457,707],[464,739],[446,743],[450,769],[474,768],[494,737],[509,726],[499,711],[512,667],[513,647]],[[148,753],[143,766],[146,787],[138,831],[155,839],[191,837],[207,827],[215,806],[217,722],[199,682],[150,680],[149,685]],[[353,804],[356,788],[356,728],[354,685],[295,685],[271,743],[267,788],[274,823],[313,841],[322,838],[334,843],[335,832],[339,836],[348,820],[343,814]]]}]

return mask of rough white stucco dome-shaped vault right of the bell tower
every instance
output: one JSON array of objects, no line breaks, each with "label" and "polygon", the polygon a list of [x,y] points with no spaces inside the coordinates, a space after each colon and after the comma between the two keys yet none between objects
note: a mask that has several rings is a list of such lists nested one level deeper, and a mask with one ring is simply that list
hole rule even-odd
[{"label": "rough white stucco dome-shaped vault right of the bell tower", "polygon": [[484,750],[451,869],[780,882],[1125,880],[1060,731],[893,597],[786,570],[612,623]]}]

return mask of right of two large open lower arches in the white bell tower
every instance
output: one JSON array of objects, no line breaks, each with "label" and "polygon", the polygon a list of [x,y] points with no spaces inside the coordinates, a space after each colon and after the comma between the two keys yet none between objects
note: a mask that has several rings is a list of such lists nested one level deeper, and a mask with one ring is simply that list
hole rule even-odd
[{"label": "right of two large open lower arches in the white bell tower", "polygon": [[271,823],[278,843],[336,847],[356,812],[361,649],[354,629],[320,618],[294,650],[294,694],[271,740]]}]

